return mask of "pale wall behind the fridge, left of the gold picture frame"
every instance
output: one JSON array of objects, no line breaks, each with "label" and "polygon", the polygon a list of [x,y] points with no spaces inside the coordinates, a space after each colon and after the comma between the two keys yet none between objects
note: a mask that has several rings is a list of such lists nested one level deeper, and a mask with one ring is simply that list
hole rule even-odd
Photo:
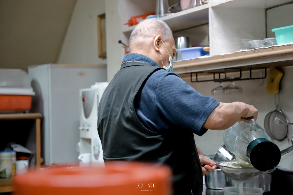
[{"label": "pale wall behind the fridge, left of the gold picture frame", "polygon": [[105,0],[77,0],[58,63],[106,63],[98,57],[97,16],[103,13]]}]

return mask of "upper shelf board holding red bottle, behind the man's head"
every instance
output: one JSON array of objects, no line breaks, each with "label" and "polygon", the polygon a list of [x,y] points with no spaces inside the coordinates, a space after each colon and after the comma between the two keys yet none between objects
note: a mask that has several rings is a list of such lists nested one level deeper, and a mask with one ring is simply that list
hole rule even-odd
[{"label": "upper shelf board holding red bottle, behind the man's head", "polygon": [[[209,4],[173,13],[159,19],[166,22],[173,32],[207,24],[209,23]],[[137,25],[126,27],[122,29],[122,32],[129,37],[136,26]]]}]

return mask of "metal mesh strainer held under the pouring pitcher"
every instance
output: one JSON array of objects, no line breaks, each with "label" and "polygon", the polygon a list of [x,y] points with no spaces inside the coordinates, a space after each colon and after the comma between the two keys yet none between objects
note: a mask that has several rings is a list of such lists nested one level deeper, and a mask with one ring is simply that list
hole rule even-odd
[{"label": "metal mesh strainer held under the pouring pitcher", "polygon": [[217,166],[222,170],[222,172],[232,180],[242,182],[249,180],[258,175],[260,172],[254,167],[230,167],[221,165],[221,163],[237,163],[237,161],[219,161],[217,162]]}]

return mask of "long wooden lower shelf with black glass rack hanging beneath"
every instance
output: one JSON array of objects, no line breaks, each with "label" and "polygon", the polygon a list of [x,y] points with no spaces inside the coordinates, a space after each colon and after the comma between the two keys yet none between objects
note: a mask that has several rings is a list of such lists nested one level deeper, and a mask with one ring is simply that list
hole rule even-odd
[{"label": "long wooden lower shelf with black glass rack hanging beneath", "polygon": [[293,44],[174,62],[174,72],[211,73],[224,68],[275,68],[293,65]]}]

